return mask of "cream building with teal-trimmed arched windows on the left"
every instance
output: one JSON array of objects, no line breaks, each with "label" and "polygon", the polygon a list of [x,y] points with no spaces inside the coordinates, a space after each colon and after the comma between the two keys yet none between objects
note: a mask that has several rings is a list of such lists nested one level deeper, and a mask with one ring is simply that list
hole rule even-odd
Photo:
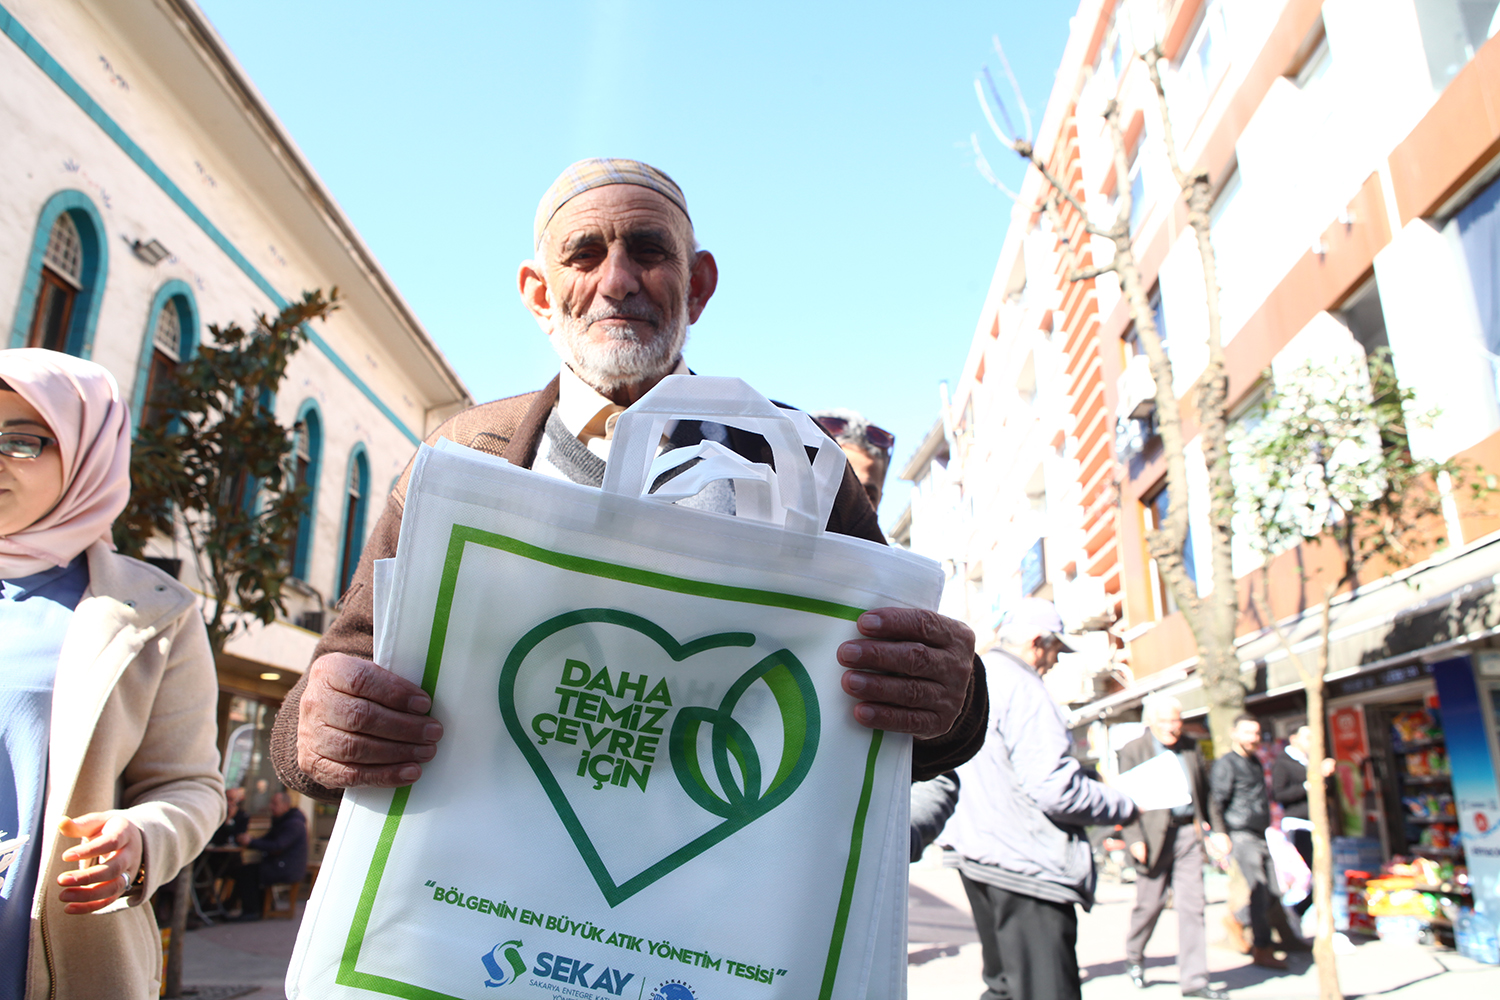
[{"label": "cream building with teal-trimmed arched windows on the left", "polygon": [[[3,0],[0,34],[6,346],[104,364],[140,421],[152,379],[210,324],[312,288],[344,301],[276,399],[312,487],[288,615],[219,661],[220,733],[246,733],[240,778],[268,777],[270,720],[387,490],[468,390],[190,0]],[[202,589],[180,540],[154,553]]]}]

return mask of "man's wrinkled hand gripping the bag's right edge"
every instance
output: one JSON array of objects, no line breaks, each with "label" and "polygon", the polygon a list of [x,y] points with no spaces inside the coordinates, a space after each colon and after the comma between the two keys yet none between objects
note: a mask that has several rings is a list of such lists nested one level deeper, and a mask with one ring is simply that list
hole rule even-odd
[{"label": "man's wrinkled hand gripping the bag's right edge", "polygon": [[861,726],[918,739],[942,736],[963,709],[974,673],[974,633],[963,622],[910,607],[878,607],[838,646],[843,690],[860,699]]}]

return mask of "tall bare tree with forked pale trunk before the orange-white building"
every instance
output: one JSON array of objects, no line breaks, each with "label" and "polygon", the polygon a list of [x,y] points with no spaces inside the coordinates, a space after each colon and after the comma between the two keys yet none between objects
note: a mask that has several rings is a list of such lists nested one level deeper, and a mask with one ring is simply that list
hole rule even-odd
[{"label": "tall bare tree with forked pale trunk before the orange-white building", "polygon": [[[1178,607],[1186,618],[1188,627],[1198,651],[1198,675],[1209,699],[1209,721],[1214,732],[1216,753],[1228,750],[1228,730],[1234,715],[1245,705],[1245,687],[1240,682],[1239,657],[1234,652],[1234,631],[1239,619],[1238,592],[1234,586],[1234,571],[1232,561],[1233,504],[1234,483],[1230,475],[1230,456],[1226,445],[1228,427],[1228,375],[1224,367],[1224,343],[1220,331],[1220,286],[1218,264],[1210,240],[1210,210],[1214,207],[1214,186],[1206,169],[1182,166],[1176,138],[1172,129],[1172,114],[1167,102],[1167,90],[1162,82],[1161,63],[1166,58],[1160,42],[1140,55],[1146,64],[1150,82],[1155,88],[1156,111],[1161,120],[1161,138],[1166,147],[1167,162],[1172,168],[1173,180],[1179,187],[1179,198],[1186,202],[1188,225],[1197,237],[1198,256],[1203,262],[1203,285],[1206,289],[1204,306],[1208,307],[1208,363],[1194,382],[1192,409],[1198,424],[1203,448],[1203,460],[1209,474],[1209,580],[1212,589],[1206,595],[1198,595],[1194,576],[1188,571],[1184,549],[1188,541],[1188,460],[1182,400],[1178,399],[1172,358],[1162,345],[1161,331],[1156,328],[1156,316],[1150,307],[1149,289],[1142,280],[1136,261],[1134,237],[1131,231],[1132,195],[1130,190],[1130,150],[1126,148],[1125,130],[1120,124],[1120,106],[1110,100],[1104,108],[1104,120],[1108,127],[1113,145],[1114,177],[1119,195],[1114,202],[1114,220],[1100,225],[1089,219],[1084,207],[1084,195],[1059,177],[1054,163],[1048,163],[1036,153],[1036,145],[1029,138],[1030,114],[1022,99],[1016,78],[1010,72],[1010,63],[999,39],[994,39],[994,51],[1005,67],[1011,90],[1023,112],[1028,135],[1017,135],[994,87],[993,78],[986,70],[984,84],[975,79],[975,93],[984,109],[984,117],[992,132],[1005,145],[1022,156],[1035,168],[1047,183],[1047,190],[1041,202],[1034,205],[1035,213],[1044,213],[1065,244],[1065,255],[1070,262],[1068,280],[1090,280],[1100,274],[1114,274],[1119,280],[1120,294],[1130,310],[1136,336],[1146,351],[1150,375],[1156,388],[1156,432],[1161,436],[1161,448],[1167,463],[1167,516],[1154,531],[1146,535],[1146,546],[1156,567],[1172,588],[1172,595]],[[987,85],[986,85],[987,84]],[[990,100],[1000,111],[1002,127],[990,108]],[[1011,198],[1020,196],[999,181],[990,168],[980,147],[976,135],[970,136],[980,172],[1005,190]],[[1053,150],[1053,160],[1062,153]],[[1095,262],[1092,255],[1084,258],[1084,247],[1066,238],[1071,231],[1082,229],[1088,235],[1108,240],[1113,246],[1113,256],[1106,262]],[[1082,241],[1078,241],[1082,243]]]}]

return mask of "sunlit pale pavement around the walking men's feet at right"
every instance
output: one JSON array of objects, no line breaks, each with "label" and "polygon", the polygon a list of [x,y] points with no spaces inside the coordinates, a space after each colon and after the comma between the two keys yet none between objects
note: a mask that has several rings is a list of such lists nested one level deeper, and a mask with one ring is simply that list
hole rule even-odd
[{"label": "sunlit pale pavement around the walking men's feet at right", "polygon": [[[1100,883],[1100,901],[1078,919],[1078,966],[1084,1000],[1170,1000],[1178,997],[1178,916],[1167,910],[1146,948],[1146,990],[1125,978],[1125,933],[1132,886]],[[912,865],[908,996],[910,1000],[963,1000],[984,993],[980,945],[969,922],[958,873],[924,859]],[[1287,972],[1250,964],[1222,946],[1224,883],[1208,886],[1209,970],[1212,984],[1236,1000],[1317,1000],[1317,972],[1310,955],[1293,955]],[[1338,960],[1346,997],[1390,1000],[1460,1000],[1500,997],[1500,967],[1480,966],[1456,952],[1370,942]]]}]

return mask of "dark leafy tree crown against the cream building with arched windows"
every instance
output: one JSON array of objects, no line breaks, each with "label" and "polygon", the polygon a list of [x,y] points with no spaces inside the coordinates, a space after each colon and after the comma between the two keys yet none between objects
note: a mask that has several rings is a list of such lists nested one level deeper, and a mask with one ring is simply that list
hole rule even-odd
[{"label": "dark leafy tree crown against the cream building with arched windows", "polygon": [[286,613],[282,589],[308,486],[297,483],[294,429],[270,403],[308,339],[304,324],[338,309],[338,294],[304,292],[278,316],[256,313],[250,330],[208,327],[208,343],[147,400],[114,540],[140,556],[153,535],[186,538],[210,598],[214,655],[250,621]]}]

